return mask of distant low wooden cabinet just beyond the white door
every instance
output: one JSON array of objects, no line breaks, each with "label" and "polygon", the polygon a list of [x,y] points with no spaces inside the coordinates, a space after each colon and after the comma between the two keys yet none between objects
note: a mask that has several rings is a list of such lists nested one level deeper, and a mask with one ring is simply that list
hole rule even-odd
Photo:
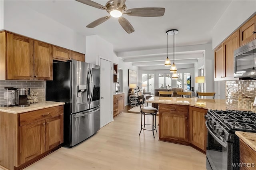
[{"label": "distant low wooden cabinet just beyond the white door", "polygon": [[113,97],[113,117],[116,117],[124,111],[124,93],[114,95]]}]

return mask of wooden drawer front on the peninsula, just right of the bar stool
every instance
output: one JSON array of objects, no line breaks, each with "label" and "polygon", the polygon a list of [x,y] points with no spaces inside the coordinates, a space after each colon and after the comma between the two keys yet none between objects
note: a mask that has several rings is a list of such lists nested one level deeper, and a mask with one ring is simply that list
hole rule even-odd
[{"label": "wooden drawer front on the peninsula, just right of the bar stool", "polygon": [[159,104],[159,111],[173,114],[188,114],[188,106]]}]

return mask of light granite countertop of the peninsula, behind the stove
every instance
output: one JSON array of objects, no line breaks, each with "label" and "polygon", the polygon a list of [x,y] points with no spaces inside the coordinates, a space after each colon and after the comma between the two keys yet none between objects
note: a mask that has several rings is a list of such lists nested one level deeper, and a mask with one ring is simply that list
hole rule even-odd
[{"label": "light granite countertop of the peninsula, behind the stove", "polygon": [[158,104],[172,105],[189,105],[203,109],[213,110],[244,110],[238,107],[227,107],[224,99],[198,99],[198,98],[183,98],[183,97],[151,97],[145,102]]}]

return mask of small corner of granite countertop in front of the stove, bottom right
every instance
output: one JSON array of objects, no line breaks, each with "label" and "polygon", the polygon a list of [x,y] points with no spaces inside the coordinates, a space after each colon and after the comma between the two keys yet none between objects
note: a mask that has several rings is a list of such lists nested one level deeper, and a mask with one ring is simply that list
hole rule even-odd
[{"label": "small corner of granite countertop in front of the stove, bottom right", "polygon": [[236,131],[236,136],[243,140],[256,152],[256,133]]}]

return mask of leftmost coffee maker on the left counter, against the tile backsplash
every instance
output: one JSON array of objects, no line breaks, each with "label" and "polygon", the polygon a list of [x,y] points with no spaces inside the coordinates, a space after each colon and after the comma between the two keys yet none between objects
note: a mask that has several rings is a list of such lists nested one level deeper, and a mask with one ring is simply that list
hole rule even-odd
[{"label": "leftmost coffee maker on the left counter, against the tile backsplash", "polygon": [[4,99],[7,99],[6,105],[4,107],[18,106],[18,90],[14,87],[4,87],[7,93],[4,94]]}]

